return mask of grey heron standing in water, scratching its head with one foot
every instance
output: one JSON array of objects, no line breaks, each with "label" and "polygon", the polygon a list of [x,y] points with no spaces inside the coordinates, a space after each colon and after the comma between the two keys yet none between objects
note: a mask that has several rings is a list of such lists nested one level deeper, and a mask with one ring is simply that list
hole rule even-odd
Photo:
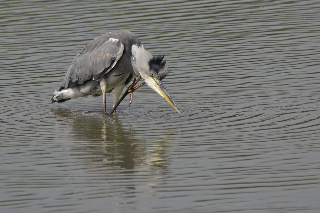
[{"label": "grey heron standing in water, scratching its head with one foot", "polygon": [[[61,103],[85,95],[103,95],[106,113],[106,93],[114,90],[115,107],[124,86],[140,76],[180,113],[161,82],[169,71],[164,55],[152,56],[132,32],[116,30],[95,38],[76,55],[51,101]],[[136,83],[134,80],[130,87],[131,95]]]}]

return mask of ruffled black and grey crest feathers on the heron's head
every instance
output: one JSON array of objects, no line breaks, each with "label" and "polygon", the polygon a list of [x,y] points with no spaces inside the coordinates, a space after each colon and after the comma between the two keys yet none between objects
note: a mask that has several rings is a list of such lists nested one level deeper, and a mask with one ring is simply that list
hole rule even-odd
[{"label": "ruffled black and grey crest feathers on the heron's head", "polygon": [[152,57],[149,61],[150,71],[154,72],[159,80],[164,79],[170,71],[170,69],[165,69],[166,63],[167,61],[164,59],[164,54],[162,55],[161,53],[156,57]]}]

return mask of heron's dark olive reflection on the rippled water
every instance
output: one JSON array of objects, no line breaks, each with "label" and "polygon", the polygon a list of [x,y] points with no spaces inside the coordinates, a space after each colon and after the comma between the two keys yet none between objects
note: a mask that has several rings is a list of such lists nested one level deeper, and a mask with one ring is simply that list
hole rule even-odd
[{"label": "heron's dark olive reflection on the rippled water", "polygon": [[76,139],[73,153],[89,159],[90,168],[105,169],[106,172],[115,169],[133,171],[137,167],[166,170],[166,147],[172,134],[176,133],[169,133],[163,140],[139,140],[134,136],[132,127],[123,125],[117,114],[101,118],[101,114],[96,112],[66,109],[52,112],[57,119],[65,122],[63,125],[70,129],[71,136]]}]

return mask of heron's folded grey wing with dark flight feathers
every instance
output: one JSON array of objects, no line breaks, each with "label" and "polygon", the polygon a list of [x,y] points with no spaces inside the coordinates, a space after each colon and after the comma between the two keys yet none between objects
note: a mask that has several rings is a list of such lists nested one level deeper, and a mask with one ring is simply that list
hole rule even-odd
[{"label": "heron's folded grey wing with dark flight feathers", "polygon": [[87,44],[71,63],[59,89],[67,89],[83,84],[85,81],[99,80],[117,63],[124,51],[124,45],[115,38],[103,37]]}]

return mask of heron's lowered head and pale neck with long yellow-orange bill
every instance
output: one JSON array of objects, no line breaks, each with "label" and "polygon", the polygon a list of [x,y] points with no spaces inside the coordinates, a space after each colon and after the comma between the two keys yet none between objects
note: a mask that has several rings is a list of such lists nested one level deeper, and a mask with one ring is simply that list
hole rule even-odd
[{"label": "heron's lowered head and pale neck with long yellow-orange bill", "polygon": [[141,75],[149,87],[164,97],[168,103],[180,113],[173,98],[161,82],[170,71],[164,55],[160,54],[153,57],[150,52],[144,49],[143,45],[132,45],[132,56],[133,63],[137,69],[136,72],[139,72],[139,75]]}]

